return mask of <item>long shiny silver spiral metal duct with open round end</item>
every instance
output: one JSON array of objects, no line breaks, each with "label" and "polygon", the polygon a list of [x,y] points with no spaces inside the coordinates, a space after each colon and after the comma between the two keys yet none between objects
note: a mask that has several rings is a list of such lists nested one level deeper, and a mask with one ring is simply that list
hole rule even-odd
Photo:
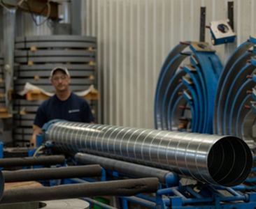
[{"label": "long shiny silver spiral metal duct with open round end", "polygon": [[90,153],[157,167],[215,185],[234,186],[250,173],[252,154],[241,139],[58,121],[45,139],[65,153]]}]

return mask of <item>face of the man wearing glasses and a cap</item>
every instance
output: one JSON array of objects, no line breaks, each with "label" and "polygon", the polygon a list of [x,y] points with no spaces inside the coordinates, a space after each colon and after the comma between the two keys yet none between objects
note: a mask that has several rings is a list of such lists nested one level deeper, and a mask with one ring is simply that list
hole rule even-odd
[{"label": "face of the man wearing glasses and a cap", "polygon": [[69,89],[70,77],[62,70],[56,70],[50,81],[52,82],[52,86],[55,87],[56,91],[66,91]]}]

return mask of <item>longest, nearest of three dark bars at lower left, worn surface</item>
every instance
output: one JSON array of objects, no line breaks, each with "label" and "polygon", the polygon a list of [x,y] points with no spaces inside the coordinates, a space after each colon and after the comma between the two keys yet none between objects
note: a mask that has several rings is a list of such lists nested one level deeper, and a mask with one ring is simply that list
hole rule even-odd
[{"label": "longest, nearest of three dark bars at lower left, worn surface", "polygon": [[156,192],[158,187],[159,181],[157,178],[138,178],[97,183],[60,185],[56,187],[7,189],[3,192],[3,198],[1,199],[0,204],[91,196],[132,196],[143,192]]}]

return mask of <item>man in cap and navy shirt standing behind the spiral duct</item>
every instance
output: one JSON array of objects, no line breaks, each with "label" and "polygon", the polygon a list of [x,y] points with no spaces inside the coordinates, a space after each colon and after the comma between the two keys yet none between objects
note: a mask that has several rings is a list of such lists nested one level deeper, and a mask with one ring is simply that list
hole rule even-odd
[{"label": "man in cap and navy shirt standing behind the spiral duct", "polygon": [[94,116],[87,101],[70,91],[71,77],[67,68],[53,68],[50,72],[50,82],[55,87],[55,95],[45,100],[36,111],[34,132],[30,140],[33,147],[36,146],[36,135],[40,134],[41,128],[48,121],[64,119],[82,123],[94,122]]}]

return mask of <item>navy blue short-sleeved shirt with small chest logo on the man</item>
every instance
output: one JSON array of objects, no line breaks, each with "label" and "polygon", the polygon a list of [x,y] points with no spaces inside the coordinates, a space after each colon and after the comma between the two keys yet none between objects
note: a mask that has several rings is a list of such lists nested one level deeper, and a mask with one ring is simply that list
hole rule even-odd
[{"label": "navy blue short-sleeved shirt with small chest logo on the man", "polygon": [[72,122],[91,123],[94,121],[89,104],[83,98],[71,93],[67,100],[59,100],[53,95],[45,100],[36,111],[34,125],[43,127],[53,119],[64,119]]}]

